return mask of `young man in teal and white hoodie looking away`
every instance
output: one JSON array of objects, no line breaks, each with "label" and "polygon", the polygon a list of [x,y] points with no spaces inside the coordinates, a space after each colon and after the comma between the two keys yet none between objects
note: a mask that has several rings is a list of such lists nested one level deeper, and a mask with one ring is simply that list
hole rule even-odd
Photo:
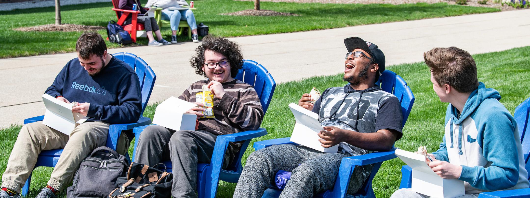
[{"label": "young man in teal and white hoodie looking away", "polygon": [[[497,90],[485,88],[476,77],[471,54],[435,48],[423,53],[431,82],[442,102],[445,135],[440,148],[428,154],[432,171],[442,178],[464,181],[465,195],[527,188],[527,172],[515,119],[499,102]],[[427,197],[401,188],[394,197]]]}]

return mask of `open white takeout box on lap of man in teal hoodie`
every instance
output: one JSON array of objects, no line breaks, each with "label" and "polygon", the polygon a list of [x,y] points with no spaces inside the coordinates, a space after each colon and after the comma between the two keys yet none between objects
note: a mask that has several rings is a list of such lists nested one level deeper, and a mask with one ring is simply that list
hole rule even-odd
[{"label": "open white takeout box on lap of man in teal hoodie", "polygon": [[425,156],[399,148],[395,154],[412,168],[412,191],[443,198],[465,195],[464,181],[441,178],[425,162]]}]

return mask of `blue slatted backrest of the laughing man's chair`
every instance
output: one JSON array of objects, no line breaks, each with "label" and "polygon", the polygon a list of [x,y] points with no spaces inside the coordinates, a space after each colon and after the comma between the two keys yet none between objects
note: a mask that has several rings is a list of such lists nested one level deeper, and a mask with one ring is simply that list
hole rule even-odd
[{"label": "blue slatted backrest of the laughing man's chair", "polygon": [[[398,74],[393,71],[385,70],[376,84],[388,93],[392,93],[394,96],[398,97],[401,103],[401,115],[403,116],[402,125],[405,126],[405,122],[409,118],[412,105],[414,104],[414,95],[407,82],[403,80]],[[381,167],[383,163],[377,163],[372,169],[372,173],[368,176],[367,180],[363,184],[359,191],[356,194],[366,195],[372,190],[372,180]]]}]

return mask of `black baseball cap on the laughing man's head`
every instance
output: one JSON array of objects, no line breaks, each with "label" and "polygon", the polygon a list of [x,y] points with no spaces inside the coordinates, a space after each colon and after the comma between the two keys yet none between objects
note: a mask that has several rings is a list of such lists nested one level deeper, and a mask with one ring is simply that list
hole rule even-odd
[{"label": "black baseball cap on the laughing man's head", "polygon": [[359,37],[349,37],[344,40],[344,44],[346,45],[348,52],[352,52],[355,49],[361,49],[368,52],[379,65],[379,69],[377,70],[379,71],[379,74],[385,71],[385,54],[383,54],[383,51],[379,50],[379,47],[376,44],[366,42]]}]

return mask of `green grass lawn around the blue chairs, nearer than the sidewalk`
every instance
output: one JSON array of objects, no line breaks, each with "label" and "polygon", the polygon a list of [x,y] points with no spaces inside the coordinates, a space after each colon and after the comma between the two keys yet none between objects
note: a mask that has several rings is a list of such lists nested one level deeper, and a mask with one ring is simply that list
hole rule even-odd
[{"label": "green grass lawn around the blue chairs, nearer than the sidewalk", "polygon": [[[500,101],[510,112],[513,113],[520,102],[530,97],[530,91],[528,91],[530,87],[530,67],[528,67],[530,46],[502,52],[476,54],[474,58],[478,65],[479,80],[484,82],[486,87],[497,89],[500,92],[502,96]],[[393,65],[387,69],[403,77],[416,97],[410,117],[403,129],[404,135],[395,146],[405,150],[415,150],[420,145],[427,145],[430,152],[435,151],[444,133],[443,121],[447,103],[440,102],[432,90],[429,69],[424,63]],[[261,125],[268,130],[269,134],[252,140],[243,157],[243,164],[254,151],[253,142],[290,136],[295,122],[287,107],[290,102],[298,101],[302,93],[310,91],[312,87],[324,90],[328,87],[342,87],[344,84],[346,83],[342,81],[342,74],[278,84]],[[155,107],[156,104],[148,106],[144,116],[152,118]],[[5,151],[0,154],[0,173],[4,172],[10,153],[8,151],[12,149],[19,130],[20,126],[0,129],[0,137],[3,137],[0,148]],[[129,153],[132,153],[132,146]],[[398,189],[402,165],[404,163],[397,158],[383,163],[373,182],[377,197],[389,197]],[[51,168],[40,167],[36,174],[33,174],[31,196],[39,192],[38,188],[46,185],[50,173]],[[218,197],[232,197],[234,188],[235,184],[221,182],[217,195]]]}]

